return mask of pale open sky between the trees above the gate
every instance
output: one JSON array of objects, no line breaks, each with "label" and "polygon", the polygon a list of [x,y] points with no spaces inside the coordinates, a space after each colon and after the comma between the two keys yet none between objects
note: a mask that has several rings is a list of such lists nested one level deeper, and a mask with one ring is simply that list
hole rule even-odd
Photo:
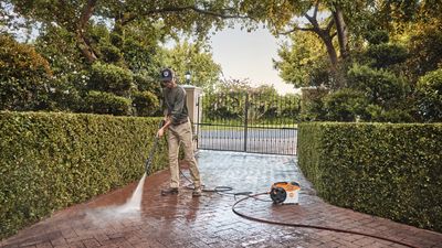
[{"label": "pale open sky between the trees above the gate", "polygon": [[274,85],[280,94],[296,93],[293,85],[285,84],[273,68],[281,40],[276,40],[266,29],[252,32],[225,29],[211,35],[213,61],[221,65],[225,79],[245,79],[252,86]]}]

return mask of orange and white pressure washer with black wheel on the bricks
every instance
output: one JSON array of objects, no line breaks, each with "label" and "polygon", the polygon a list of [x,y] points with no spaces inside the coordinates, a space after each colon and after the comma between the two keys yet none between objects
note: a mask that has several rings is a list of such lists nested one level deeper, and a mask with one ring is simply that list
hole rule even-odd
[{"label": "orange and white pressure washer with black wheel on the bricks", "polygon": [[301,185],[297,182],[278,182],[272,185],[270,197],[274,204],[298,204]]}]

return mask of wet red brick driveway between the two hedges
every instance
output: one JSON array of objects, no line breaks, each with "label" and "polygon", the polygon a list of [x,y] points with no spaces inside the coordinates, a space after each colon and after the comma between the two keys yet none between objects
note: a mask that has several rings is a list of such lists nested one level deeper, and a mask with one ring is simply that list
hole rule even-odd
[{"label": "wet red brick driveway between the two hedges", "polygon": [[[138,182],[52,217],[2,240],[0,247],[442,247],[442,234],[398,224],[324,203],[296,166],[295,157],[201,151],[206,188],[230,186],[225,193],[203,192],[193,198],[181,176],[178,195],[161,196],[168,171],[146,177],[141,206],[125,211]],[[183,175],[189,172],[182,166]],[[141,177],[141,176],[140,176]],[[189,176],[190,177],[190,176]],[[299,205],[273,205],[269,195],[248,198],[241,214],[285,224],[314,225],[367,234],[355,235],[304,227],[277,226],[242,218],[232,205],[242,196],[267,192],[274,182],[298,181]]]}]

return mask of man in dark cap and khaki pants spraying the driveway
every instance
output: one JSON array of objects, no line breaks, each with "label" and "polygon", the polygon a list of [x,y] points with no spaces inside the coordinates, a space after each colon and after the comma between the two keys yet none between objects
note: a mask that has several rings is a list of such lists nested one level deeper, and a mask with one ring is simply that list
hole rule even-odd
[{"label": "man in dark cap and khaki pants spraying the driveway", "polygon": [[170,166],[170,187],[162,190],[161,195],[178,194],[178,153],[181,142],[185,149],[185,161],[189,163],[190,175],[193,180],[194,190],[192,196],[201,196],[201,179],[197,160],[193,155],[192,129],[186,105],[186,90],[177,85],[175,73],[170,68],[161,71],[160,80],[164,87],[165,125],[158,130],[157,134],[162,137],[167,130]]}]

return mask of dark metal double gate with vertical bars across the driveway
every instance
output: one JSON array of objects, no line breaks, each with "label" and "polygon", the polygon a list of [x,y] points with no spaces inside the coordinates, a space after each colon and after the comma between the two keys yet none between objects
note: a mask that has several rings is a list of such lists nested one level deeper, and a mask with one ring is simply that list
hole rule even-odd
[{"label": "dark metal double gate with vertical bars across the driveway", "polygon": [[203,95],[197,147],[207,150],[296,154],[296,96],[262,93]]}]

